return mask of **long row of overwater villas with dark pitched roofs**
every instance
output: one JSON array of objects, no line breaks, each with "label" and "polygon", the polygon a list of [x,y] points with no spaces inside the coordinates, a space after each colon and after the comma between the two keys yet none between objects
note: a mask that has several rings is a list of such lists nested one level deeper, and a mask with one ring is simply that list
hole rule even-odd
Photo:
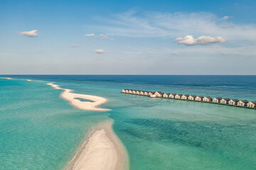
[{"label": "long row of overwater villas with dark pitched roofs", "polygon": [[196,95],[188,95],[188,94],[171,94],[171,93],[164,93],[161,91],[140,91],[140,90],[132,90],[132,89],[122,89],[123,94],[135,94],[140,96],[150,96],[151,98],[173,98],[183,101],[199,101],[199,102],[206,102],[206,103],[215,103],[215,104],[222,104],[227,106],[237,106],[242,108],[255,108],[256,109],[256,101],[239,101],[238,99],[230,98],[211,98],[210,96],[196,96]]}]

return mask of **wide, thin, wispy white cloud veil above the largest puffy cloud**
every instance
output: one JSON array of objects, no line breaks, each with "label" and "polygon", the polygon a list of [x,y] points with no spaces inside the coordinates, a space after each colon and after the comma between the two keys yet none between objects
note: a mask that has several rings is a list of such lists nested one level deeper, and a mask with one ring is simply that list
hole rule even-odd
[{"label": "wide, thin, wispy white cloud veil above the largest puffy cloud", "polygon": [[[224,16],[223,18],[230,18]],[[94,29],[107,35],[125,37],[164,37],[176,35],[211,35],[228,40],[256,40],[255,24],[235,24],[218,18],[213,13],[160,13],[136,11],[117,13],[110,17],[96,18],[99,26]]]}]

